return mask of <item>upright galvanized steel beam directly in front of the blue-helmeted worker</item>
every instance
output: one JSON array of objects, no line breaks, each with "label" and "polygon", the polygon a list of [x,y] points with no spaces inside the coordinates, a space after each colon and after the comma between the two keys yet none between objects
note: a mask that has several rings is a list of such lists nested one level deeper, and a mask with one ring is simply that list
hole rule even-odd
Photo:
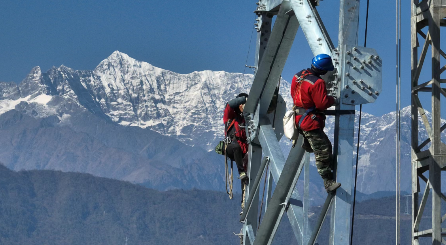
[{"label": "upright galvanized steel beam directly in front of the blue-helmeted worker", "polygon": [[[339,51],[342,53],[346,45],[358,44],[359,0],[341,0],[339,12]],[[338,70],[346,65],[343,60],[339,62]],[[347,74],[340,74],[340,88],[344,87],[348,79]],[[341,90],[340,98],[348,96]],[[339,110],[354,110],[354,105],[340,103]],[[339,115],[335,117],[335,134],[333,144],[333,175],[342,186],[337,189],[331,208],[331,235],[329,244],[347,245],[350,242],[350,213],[352,198],[353,175],[353,138],[354,114]]]}]

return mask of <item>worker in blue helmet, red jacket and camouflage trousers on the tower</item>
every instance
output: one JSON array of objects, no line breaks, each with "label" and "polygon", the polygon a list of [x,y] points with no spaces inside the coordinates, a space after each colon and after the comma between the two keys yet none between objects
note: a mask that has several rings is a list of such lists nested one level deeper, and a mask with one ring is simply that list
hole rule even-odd
[{"label": "worker in blue helmet, red jacket and camouflage trousers on the tower", "polygon": [[332,146],[323,130],[326,119],[324,111],[335,103],[335,99],[327,95],[325,81],[320,76],[332,70],[334,66],[331,57],[319,54],[313,58],[311,68],[295,74],[291,83],[295,122],[304,136],[302,148],[307,152],[314,152],[317,171],[324,180],[328,193],[341,186],[333,180]]}]

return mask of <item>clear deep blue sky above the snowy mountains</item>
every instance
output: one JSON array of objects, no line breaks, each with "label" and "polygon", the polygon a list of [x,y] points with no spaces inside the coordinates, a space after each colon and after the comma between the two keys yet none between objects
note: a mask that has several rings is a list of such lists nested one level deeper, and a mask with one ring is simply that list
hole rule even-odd
[{"label": "clear deep blue sky above the snowy mountains", "polygon": [[[20,82],[34,66],[44,71],[62,64],[74,69],[94,69],[115,50],[178,73],[243,72],[254,27],[255,2],[4,0],[0,2],[0,81]],[[404,4],[402,104],[407,106],[410,3]],[[395,7],[395,2],[388,0],[370,3],[367,47],[377,49],[384,64],[383,92],[376,103],[364,106],[364,111],[374,115],[396,108]],[[337,45],[339,1],[322,1],[318,9]],[[362,0],[360,45],[364,42],[365,9],[366,1]],[[254,63],[254,38],[255,35],[248,65]],[[299,30],[282,76],[291,80],[294,73],[310,64],[312,57]]]}]

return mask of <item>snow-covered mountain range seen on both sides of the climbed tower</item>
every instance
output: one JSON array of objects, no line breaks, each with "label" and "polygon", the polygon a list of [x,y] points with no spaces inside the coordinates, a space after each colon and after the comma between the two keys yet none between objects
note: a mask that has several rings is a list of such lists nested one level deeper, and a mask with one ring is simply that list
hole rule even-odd
[{"label": "snow-covered mountain range seen on both sides of the climbed tower", "polygon": [[[224,71],[178,74],[115,51],[92,71],[60,66],[43,73],[35,67],[18,85],[0,83],[0,114],[15,109],[37,119],[57,116],[60,125],[78,130],[76,116],[92,113],[110,123],[153,130],[211,151],[223,137],[226,102],[248,92],[252,79],[251,74]],[[287,106],[292,106],[288,82],[282,80],[280,93]],[[409,190],[410,109],[404,108],[401,116],[402,175],[407,176],[402,190]],[[82,130],[86,131],[85,126]],[[325,130],[332,139],[333,117],[328,118]],[[395,113],[381,117],[362,114],[359,191],[395,189],[395,130]],[[113,135],[113,131],[109,133]],[[421,132],[420,140],[425,138]],[[281,144],[286,152],[289,142],[285,137]],[[122,178],[132,181],[131,176],[136,175],[141,178],[141,172]]]}]

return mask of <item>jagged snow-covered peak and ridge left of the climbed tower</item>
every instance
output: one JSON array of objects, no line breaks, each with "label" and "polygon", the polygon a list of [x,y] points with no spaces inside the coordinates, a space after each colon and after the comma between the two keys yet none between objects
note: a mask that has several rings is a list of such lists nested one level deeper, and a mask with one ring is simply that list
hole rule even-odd
[{"label": "jagged snow-covered peak and ridge left of the climbed tower", "polygon": [[[61,106],[68,102],[121,125],[150,128],[212,150],[223,134],[226,102],[249,91],[252,79],[251,74],[224,71],[178,74],[115,51],[93,71],[60,66],[42,73],[35,67],[18,86],[2,83],[0,112],[26,101],[36,107],[34,116],[70,114],[73,108]],[[286,91],[289,84],[282,82],[288,102]],[[51,98],[48,106],[40,106]]]}]

